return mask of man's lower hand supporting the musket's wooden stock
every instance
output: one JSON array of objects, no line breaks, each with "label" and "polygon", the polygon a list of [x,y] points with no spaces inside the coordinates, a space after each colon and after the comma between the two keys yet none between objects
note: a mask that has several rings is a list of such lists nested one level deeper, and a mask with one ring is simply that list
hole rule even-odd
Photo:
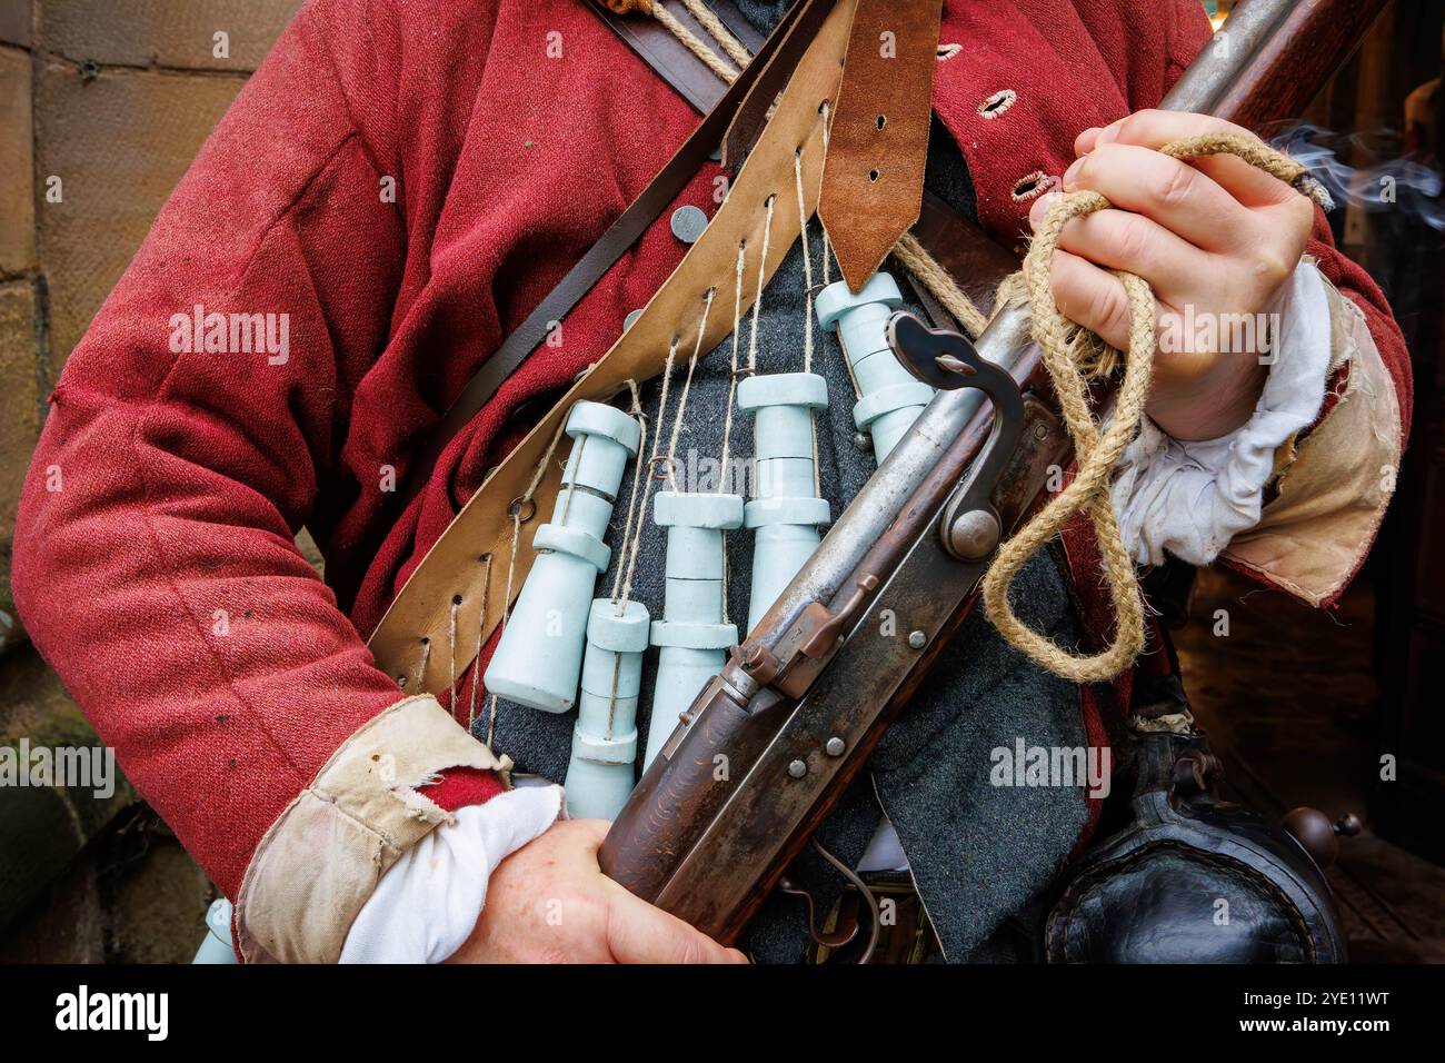
[{"label": "man's lower hand supporting the musket's wooden stock", "polygon": [[504,859],[448,963],[747,963],[603,875],[605,820],[568,820]]}]

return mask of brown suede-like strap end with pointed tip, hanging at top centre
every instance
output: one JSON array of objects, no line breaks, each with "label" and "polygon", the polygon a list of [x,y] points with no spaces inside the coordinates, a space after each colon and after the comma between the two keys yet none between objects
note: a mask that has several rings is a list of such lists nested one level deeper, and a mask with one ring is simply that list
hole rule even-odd
[{"label": "brown suede-like strap end with pointed tip, hanging at top centre", "polygon": [[818,215],[858,291],[918,220],[942,0],[858,0]]}]

